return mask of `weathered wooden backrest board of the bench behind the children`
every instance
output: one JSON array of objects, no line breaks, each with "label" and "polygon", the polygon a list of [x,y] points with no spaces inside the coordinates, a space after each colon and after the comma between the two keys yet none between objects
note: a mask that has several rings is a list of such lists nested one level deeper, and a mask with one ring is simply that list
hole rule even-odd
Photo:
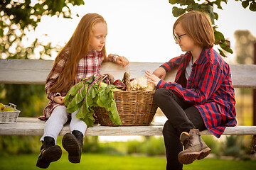
[{"label": "weathered wooden backrest board of the bench behind the children", "polygon": [[[162,63],[130,62],[122,68],[118,64],[106,62],[101,72],[110,73],[114,79],[122,79],[124,72],[130,72],[131,78],[144,77],[144,72],[153,72]],[[45,84],[46,77],[53,67],[53,60],[0,60],[0,83],[2,84]],[[256,65],[230,64],[233,86],[256,89]],[[174,81],[175,72],[166,75],[166,81]]]}]

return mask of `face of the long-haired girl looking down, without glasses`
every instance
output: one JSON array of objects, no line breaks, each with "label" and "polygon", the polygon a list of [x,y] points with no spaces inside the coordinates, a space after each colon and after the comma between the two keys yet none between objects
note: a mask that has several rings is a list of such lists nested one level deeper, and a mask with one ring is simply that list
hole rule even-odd
[{"label": "face of the long-haired girl looking down, without glasses", "polygon": [[107,24],[95,23],[92,31],[92,37],[90,41],[90,50],[96,50],[100,52],[105,46],[107,37]]}]

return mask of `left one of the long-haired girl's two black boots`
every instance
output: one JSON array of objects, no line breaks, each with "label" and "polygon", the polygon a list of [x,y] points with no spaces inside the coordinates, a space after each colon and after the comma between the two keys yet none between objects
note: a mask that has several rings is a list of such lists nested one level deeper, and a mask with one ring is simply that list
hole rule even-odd
[{"label": "left one of the long-haired girl's two black boots", "polygon": [[55,145],[53,137],[44,137],[43,145],[41,147],[41,152],[38,157],[36,166],[39,168],[48,168],[50,162],[55,162],[60,159],[62,151],[58,145]]}]

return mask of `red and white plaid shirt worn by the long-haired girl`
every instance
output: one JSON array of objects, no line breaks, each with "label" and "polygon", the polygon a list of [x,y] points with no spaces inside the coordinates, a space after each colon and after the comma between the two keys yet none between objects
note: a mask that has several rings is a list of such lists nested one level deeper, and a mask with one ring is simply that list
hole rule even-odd
[{"label": "red and white plaid shirt worn by the long-haired girl", "polygon": [[[65,62],[68,60],[68,52],[63,52],[61,54],[62,59],[58,62],[56,67],[50,73],[53,73],[50,79],[46,82],[45,90],[47,94],[47,98],[50,100],[46,108],[44,109],[43,113],[44,116],[41,116],[39,119],[47,120],[50,117],[50,114],[53,112],[54,108],[60,106],[60,104],[55,103],[53,98],[55,96],[65,96],[68,93],[69,89],[65,89],[64,91],[59,91],[58,93],[50,92],[50,88],[55,84],[58,80],[60,72],[62,71],[63,67],[65,66]],[[117,60],[118,55],[108,55],[107,60],[110,62],[115,62]],[[86,57],[83,57],[78,62],[78,72],[76,75],[77,83],[80,79],[85,77],[91,77],[93,75],[99,76],[100,75],[100,67],[103,61],[102,52],[97,52],[96,50],[89,52]],[[65,106],[65,105],[63,105]]]}]

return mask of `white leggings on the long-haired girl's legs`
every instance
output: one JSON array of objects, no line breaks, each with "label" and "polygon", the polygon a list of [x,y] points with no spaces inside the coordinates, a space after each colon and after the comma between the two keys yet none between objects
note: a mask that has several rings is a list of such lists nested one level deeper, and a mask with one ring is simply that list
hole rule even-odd
[{"label": "white leggings on the long-haired girl's legs", "polygon": [[[70,121],[70,132],[73,130],[79,130],[85,136],[85,130],[87,125],[84,121],[76,118],[75,115],[78,111],[71,113],[71,121]],[[68,121],[68,111],[65,106],[58,106],[53,110],[53,113],[50,115],[50,118],[46,121],[46,125],[44,128],[43,136],[40,141],[43,141],[43,138],[46,136],[53,137],[55,143],[57,141],[57,137],[60,131],[63,128],[63,125]]]}]

